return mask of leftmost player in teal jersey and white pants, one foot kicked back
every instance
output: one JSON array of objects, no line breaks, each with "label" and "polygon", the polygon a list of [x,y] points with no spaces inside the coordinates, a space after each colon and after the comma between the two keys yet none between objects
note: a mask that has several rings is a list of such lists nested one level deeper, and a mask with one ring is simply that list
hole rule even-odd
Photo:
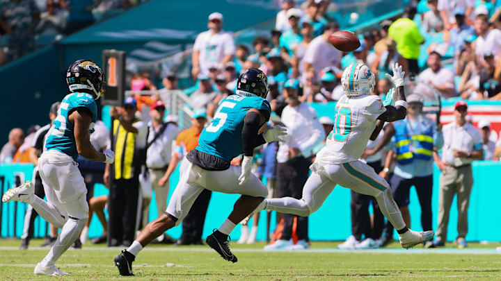
[{"label": "leftmost player in teal jersey and white pants, one foot kicked back", "polygon": [[33,196],[34,185],[29,181],[2,196],[3,202],[29,203],[42,218],[61,228],[54,246],[35,266],[34,273],[40,275],[70,275],[54,264],[79,237],[88,219],[87,189],[77,167],[78,155],[106,163],[115,159],[113,151],[101,153],[90,144],[90,133],[97,119],[95,100],[104,94],[100,67],[90,60],[77,60],[68,67],[66,82],[70,94],[61,102],[38,159],[47,201]]}]

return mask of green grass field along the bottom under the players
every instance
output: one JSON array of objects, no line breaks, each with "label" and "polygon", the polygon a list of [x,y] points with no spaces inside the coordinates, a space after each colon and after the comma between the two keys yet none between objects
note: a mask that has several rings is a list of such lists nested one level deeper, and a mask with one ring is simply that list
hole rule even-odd
[{"label": "green grass field along the bottom under the players", "polygon": [[48,248],[31,241],[0,240],[0,280],[501,280],[501,244],[473,244],[459,250],[449,244],[438,250],[399,249],[344,252],[339,242],[313,242],[308,251],[265,252],[264,243],[232,244],[239,262],[231,264],[208,246],[148,246],[134,262],[135,277],[118,275],[113,258],[121,248],[84,245],[68,250],[56,266],[72,276],[33,275]]}]

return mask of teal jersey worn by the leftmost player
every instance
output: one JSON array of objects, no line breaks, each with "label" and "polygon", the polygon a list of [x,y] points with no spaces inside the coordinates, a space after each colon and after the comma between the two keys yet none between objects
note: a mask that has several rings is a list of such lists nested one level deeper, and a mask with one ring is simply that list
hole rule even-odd
[{"label": "teal jersey worn by the leftmost player", "polygon": [[90,133],[93,132],[97,119],[97,105],[94,97],[91,94],[75,92],[67,94],[61,102],[58,115],[47,133],[47,140],[45,141],[47,151],[56,149],[70,155],[75,162],[78,159],[77,144],[74,139],[74,124],[68,120],[68,115],[77,108],[87,108],[90,110],[92,113],[92,123],[89,129]]}]

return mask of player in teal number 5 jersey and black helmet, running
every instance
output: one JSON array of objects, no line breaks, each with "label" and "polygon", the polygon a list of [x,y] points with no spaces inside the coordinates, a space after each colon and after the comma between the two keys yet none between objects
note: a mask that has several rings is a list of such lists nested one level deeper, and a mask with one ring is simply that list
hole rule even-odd
[{"label": "player in teal number 5 jersey and black helmet, running", "polygon": [[[259,69],[247,69],[239,76],[236,94],[221,101],[212,123],[202,130],[198,146],[186,155],[188,161],[182,164],[180,181],[166,212],[148,223],[136,241],[116,257],[120,275],[132,275],[132,262],[139,251],[179,225],[203,189],[241,194],[228,219],[206,239],[221,257],[237,262],[230,251],[228,235],[268,194],[259,178],[250,173],[254,148],[265,142],[282,141],[280,137],[285,135],[285,128],[278,126],[258,134],[271,114],[264,99],[267,93],[267,76]],[[230,165],[241,153],[244,153],[241,167]]]}]

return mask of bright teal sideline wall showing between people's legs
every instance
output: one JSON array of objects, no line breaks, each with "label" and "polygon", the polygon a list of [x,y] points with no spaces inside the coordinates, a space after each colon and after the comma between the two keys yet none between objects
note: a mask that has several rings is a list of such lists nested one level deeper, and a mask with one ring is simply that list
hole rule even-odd
[{"label": "bright teal sideline wall showing between people's legs", "polygon": [[[472,188],[470,209],[468,212],[469,232],[466,239],[468,241],[500,241],[499,233],[501,225],[492,221],[495,217],[493,214],[498,214],[498,201],[501,198],[501,189],[499,184],[493,181],[493,175],[501,171],[501,163],[493,161],[477,161],[473,163],[473,178],[475,183]],[[2,189],[10,188],[15,181],[15,175],[24,174],[24,178],[30,179],[33,173],[33,165],[31,164],[1,164],[0,165],[0,180],[3,180]],[[438,180],[440,172],[435,168],[434,171],[434,189],[432,197],[433,210],[433,226],[437,226],[438,214]],[[170,177],[169,198],[172,195],[175,185],[179,179],[179,172]],[[108,194],[108,189],[103,185],[96,185],[94,196]],[[154,196],[154,194],[153,194]],[[204,234],[209,235],[212,229],[217,228],[230,214],[233,204],[237,201],[237,195],[221,194],[214,192],[207,210],[207,219],[204,226]],[[344,187],[337,186],[332,194],[327,198],[326,202],[320,210],[310,216],[309,235],[310,239],[315,240],[344,240],[351,235],[351,214],[350,214],[350,190]],[[26,203],[2,203],[1,207],[1,237],[21,237],[22,224],[24,220],[24,212],[28,207]],[[414,230],[420,230],[420,205],[415,193],[415,189],[411,189],[411,204],[409,205],[411,212],[411,226]],[[156,219],[157,207],[155,200],[152,199],[150,205],[150,221]],[[275,216],[272,216],[271,230],[275,229]],[[456,239],[456,222],[457,211],[455,199],[452,203],[450,212],[450,223],[447,234],[447,240]],[[35,237],[43,237],[45,235],[46,223],[40,216],[35,220]],[[167,232],[175,238],[181,235],[181,228],[173,228]],[[102,234],[102,228],[97,216],[90,223],[90,237],[98,237]],[[259,228],[257,231],[257,239],[264,240],[266,234],[266,215],[262,212],[260,216]],[[232,232],[233,239],[238,239],[240,236],[240,227],[237,227]],[[205,236],[204,236],[205,237]]]}]

